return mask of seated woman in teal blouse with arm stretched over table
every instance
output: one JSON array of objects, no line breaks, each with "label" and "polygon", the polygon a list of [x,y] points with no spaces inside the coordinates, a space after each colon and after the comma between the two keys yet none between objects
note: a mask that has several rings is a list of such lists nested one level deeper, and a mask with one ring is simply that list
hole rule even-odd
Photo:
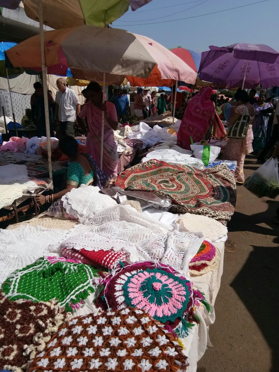
[{"label": "seated woman in teal blouse with arm stretched over table", "polygon": [[97,166],[90,154],[78,153],[77,141],[71,136],[65,136],[59,140],[61,152],[69,158],[71,163],[66,174],[66,188],[56,194],[44,196],[37,195],[38,205],[55,202],[62,198],[71,189],[76,189],[80,185],[93,185],[101,188],[108,181],[107,176]]}]

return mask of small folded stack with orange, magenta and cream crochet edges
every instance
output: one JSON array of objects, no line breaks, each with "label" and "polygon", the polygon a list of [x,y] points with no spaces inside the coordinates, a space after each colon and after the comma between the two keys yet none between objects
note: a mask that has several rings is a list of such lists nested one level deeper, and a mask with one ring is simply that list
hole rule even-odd
[{"label": "small folded stack with orange, magenta and cream crochet edges", "polygon": [[202,275],[215,272],[220,261],[218,249],[209,241],[204,241],[195,257],[189,263],[190,275]]}]

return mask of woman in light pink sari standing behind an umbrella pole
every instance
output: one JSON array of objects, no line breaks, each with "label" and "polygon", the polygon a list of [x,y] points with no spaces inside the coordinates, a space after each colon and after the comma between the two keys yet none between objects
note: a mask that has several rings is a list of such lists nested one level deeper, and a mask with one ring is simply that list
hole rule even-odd
[{"label": "woman in light pink sari standing behind an umbrella pole", "polygon": [[113,103],[102,102],[102,87],[96,81],[91,81],[86,88],[87,100],[83,109],[77,116],[77,124],[86,134],[82,118],[87,117],[88,133],[86,138],[86,152],[91,154],[100,167],[102,111],[105,115],[104,145],[103,145],[103,172],[109,177],[117,176],[118,162],[117,145],[113,137],[113,129],[118,127],[116,109]]}]

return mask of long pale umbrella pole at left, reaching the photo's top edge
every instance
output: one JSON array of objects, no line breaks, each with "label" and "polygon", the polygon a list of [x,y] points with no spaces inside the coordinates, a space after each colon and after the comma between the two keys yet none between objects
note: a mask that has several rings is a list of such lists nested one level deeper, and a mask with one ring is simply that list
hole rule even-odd
[{"label": "long pale umbrella pole at left, reaching the photo's top edge", "polygon": [[40,23],[40,41],[41,41],[41,57],[42,57],[42,77],[43,77],[43,90],[44,90],[44,102],[45,102],[45,128],[47,131],[48,170],[49,170],[49,178],[52,180],[51,142],[50,142],[49,110],[48,110],[47,66],[45,64],[45,40],[44,40],[44,20],[43,20],[42,0],[39,0],[39,23]]}]

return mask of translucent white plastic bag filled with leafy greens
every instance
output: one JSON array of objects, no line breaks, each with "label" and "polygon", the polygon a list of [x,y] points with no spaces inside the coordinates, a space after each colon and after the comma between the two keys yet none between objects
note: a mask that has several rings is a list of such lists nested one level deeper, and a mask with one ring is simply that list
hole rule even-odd
[{"label": "translucent white plastic bag filled with leafy greens", "polygon": [[259,198],[276,199],[279,195],[278,159],[267,160],[245,180],[244,187]]}]

